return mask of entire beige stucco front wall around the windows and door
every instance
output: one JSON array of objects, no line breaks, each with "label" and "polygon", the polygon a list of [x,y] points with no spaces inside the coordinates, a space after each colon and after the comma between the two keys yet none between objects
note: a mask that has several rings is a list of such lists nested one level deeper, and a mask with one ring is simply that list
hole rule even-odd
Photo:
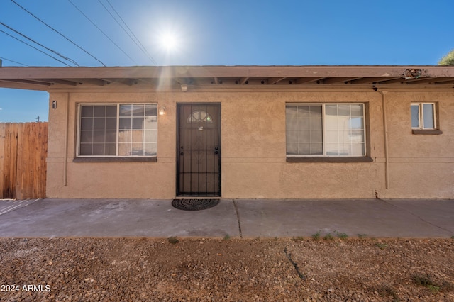
[{"label": "entire beige stucco front wall around the windows and door", "polygon": [[[454,92],[386,94],[386,172],[379,92],[218,87],[189,87],[187,92],[137,86],[50,91],[48,197],[174,198],[177,104],[217,102],[222,118],[223,198],[374,198],[376,193],[381,198],[454,198]],[[56,109],[52,109],[53,100]],[[411,101],[438,102],[442,135],[411,134]],[[104,102],[150,102],[166,107],[165,116],[158,117],[157,162],[72,162],[77,104]],[[286,162],[285,104],[289,102],[367,102],[368,149],[373,162]]]}]

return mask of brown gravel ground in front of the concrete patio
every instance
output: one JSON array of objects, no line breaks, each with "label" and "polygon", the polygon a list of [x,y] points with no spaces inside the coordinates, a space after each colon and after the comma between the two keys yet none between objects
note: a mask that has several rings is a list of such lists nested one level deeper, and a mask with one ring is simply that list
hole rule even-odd
[{"label": "brown gravel ground in front of the concrete patio", "polygon": [[1,301],[454,301],[454,240],[0,238]]}]

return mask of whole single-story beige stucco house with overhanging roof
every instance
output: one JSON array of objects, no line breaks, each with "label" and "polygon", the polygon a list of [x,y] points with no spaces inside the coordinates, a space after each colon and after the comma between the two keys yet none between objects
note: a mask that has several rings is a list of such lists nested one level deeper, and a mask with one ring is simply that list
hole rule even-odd
[{"label": "whole single-story beige stucco house with overhanging roof", "polygon": [[0,67],[48,198],[454,198],[454,66]]}]

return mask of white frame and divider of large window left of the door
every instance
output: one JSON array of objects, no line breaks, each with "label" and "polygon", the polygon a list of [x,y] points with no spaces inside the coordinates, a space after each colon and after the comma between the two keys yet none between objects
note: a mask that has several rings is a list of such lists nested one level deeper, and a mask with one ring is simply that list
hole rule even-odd
[{"label": "white frame and divider of large window left of the door", "polygon": [[[118,135],[120,133],[120,105],[156,105],[156,109],[158,107],[157,103],[79,103],[77,104],[77,138],[76,138],[76,157],[79,158],[121,158],[121,157],[128,157],[128,158],[140,158],[140,157],[157,157],[157,150],[156,150],[156,155],[143,155],[143,156],[137,156],[137,155],[118,155]],[[115,147],[115,153],[116,155],[80,155],[80,127],[81,127],[81,114],[82,114],[82,106],[116,106],[117,108],[117,113],[116,113],[116,147]],[[159,114],[156,114],[156,121],[158,118]],[[156,132],[158,133],[157,127],[159,123],[156,125]]]}]

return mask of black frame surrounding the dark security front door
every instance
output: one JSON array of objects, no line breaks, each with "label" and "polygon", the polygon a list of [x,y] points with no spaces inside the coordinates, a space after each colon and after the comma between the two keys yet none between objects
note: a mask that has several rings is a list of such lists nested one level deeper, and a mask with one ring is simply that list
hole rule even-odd
[{"label": "black frame surrounding the dark security front door", "polygon": [[[215,196],[206,196],[206,195],[185,195],[185,194],[181,194],[179,192],[179,164],[180,164],[180,157],[179,157],[179,145],[180,145],[180,133],[179,133],[179,121],[180,121],[180,108],[182,106],[204,106],[204,105],[216,105],[218,106],[218,118],[219,118],[219,125],[218,125],[218,139],[219,139],[219,158],[218,158],[218,181],[219,181],[219,184],[218,184],[218,192],[219,194],[218,195],[215,195]],[[176,157],[176,165],[175,165],[175,176],[176,176],[176,179],[175,179],[175,184],[176,184],[176,187],[175,187],[175,196],[177,197],[182,197],[182,196],[192,196],[192,197],[197,197],[197,198],[200,198],[200,197],[218,197],[220,198],[222,196],[222,184],[221,184],[221,180],[222,180],[222,170],[221,170],[221,162],[222,162],[222,137],[221,137],[221,127],[222,127],[222,118],[221,118],[221,103],[218,103],[218,102],[188,102],[188,103],[177,103],[177,113],[176,113],[176,119],[177,119],[177,131],[176,131],[176,144],[175,144],[175,157]]]}]

